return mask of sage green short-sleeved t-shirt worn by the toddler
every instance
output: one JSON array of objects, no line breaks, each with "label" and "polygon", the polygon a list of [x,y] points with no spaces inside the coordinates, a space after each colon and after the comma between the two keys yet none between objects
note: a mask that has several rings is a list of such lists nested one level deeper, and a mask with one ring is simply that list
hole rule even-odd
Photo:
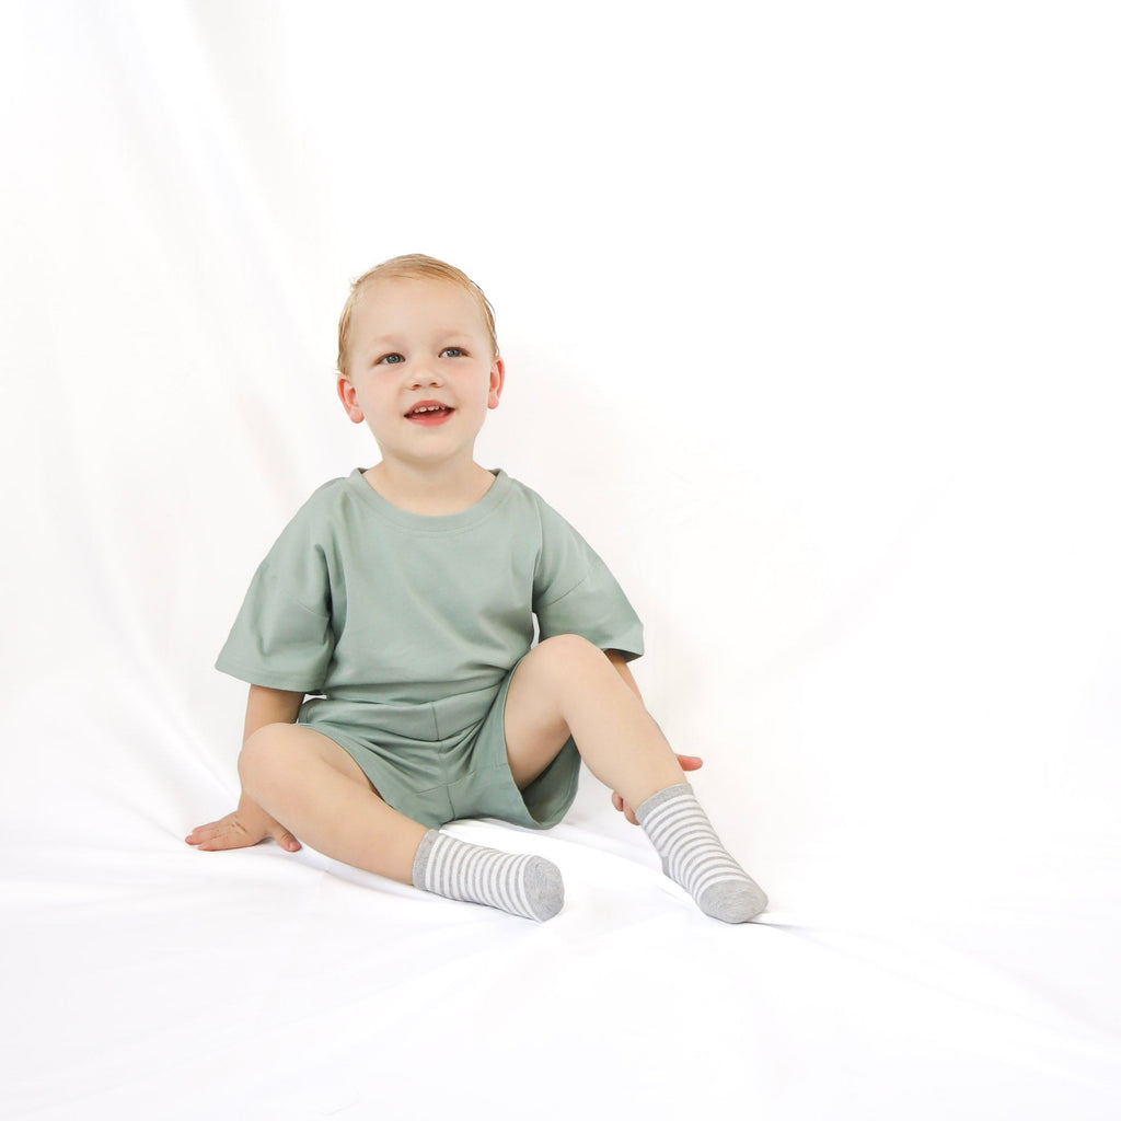
[{"label": "sage green short-sleeved t-shirt worn by the toddler", "polygon": [[[257,569],[219,656],[278,689],[399,708],[497,689],[539,637],[642,654],[642,624],[584,539],[503,471],[426,517],[355,469],[321,487]],[[371,719],[377,720],[371,713]]]}]

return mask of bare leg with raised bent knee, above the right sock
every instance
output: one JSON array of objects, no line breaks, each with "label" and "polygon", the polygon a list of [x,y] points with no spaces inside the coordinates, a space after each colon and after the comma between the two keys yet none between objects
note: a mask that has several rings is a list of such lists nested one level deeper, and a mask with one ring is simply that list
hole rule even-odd
[{"label": "bare leg with raised bent knee, above the right sock", "polygon": [[525,788],[571,735],[589,770],[638,806],[685,781],[661,730],[602,650],[575,634],[546,639],[521,660],[506,700],[510,770]]}]

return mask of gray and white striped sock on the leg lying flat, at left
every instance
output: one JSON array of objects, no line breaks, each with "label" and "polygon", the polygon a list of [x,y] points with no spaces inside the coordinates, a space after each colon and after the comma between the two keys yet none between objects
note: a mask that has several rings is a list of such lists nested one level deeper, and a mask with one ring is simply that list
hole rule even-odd
[{"label": "gray and white striped sock on the leg lying flat, at left", "polygon": [[446,899],[485,904],[538,923],[564,906],[564,881],[552,861],[467,844],[436,830],[420,842],[413,883]]}]

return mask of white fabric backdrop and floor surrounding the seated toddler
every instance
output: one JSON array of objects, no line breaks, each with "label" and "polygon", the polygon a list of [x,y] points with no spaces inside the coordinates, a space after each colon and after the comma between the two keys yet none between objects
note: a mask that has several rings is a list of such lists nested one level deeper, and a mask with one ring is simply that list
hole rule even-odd
[{"label": "white fabric backdrop and floor surrounding the seated toddler", "polygon": [[[772,9],[0,6],[0,1118],[1121,1117],[1105,8]],[[590,778],[451,826],[562,868],[544,925],[184,843],[408,251],[494,303],[479,457],[628,590],[760,921]]]}]

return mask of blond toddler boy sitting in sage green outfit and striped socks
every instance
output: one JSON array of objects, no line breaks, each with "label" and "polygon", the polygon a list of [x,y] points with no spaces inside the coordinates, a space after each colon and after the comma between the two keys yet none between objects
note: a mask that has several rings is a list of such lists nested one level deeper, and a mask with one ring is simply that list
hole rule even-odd
[{"label": "blond toddler boy sitting in sage green outfit and striped socks", "polygon": [[627,667],[642,654],[633,609],[564,519],[474,461],[504,377],[491,307],[458,269],[414,254],[352,285],[339,397],[381,461],[321,487],[253,576],[217,660],[250,683],[241,799],[187,843],[271,836],[294,852],[298,836],[544,920],[564,902],[555,864],[441,827],[548,828],[583,759],[705,914],[748,921],[766,896],[685,781],[700,760],[674,754]]}]

